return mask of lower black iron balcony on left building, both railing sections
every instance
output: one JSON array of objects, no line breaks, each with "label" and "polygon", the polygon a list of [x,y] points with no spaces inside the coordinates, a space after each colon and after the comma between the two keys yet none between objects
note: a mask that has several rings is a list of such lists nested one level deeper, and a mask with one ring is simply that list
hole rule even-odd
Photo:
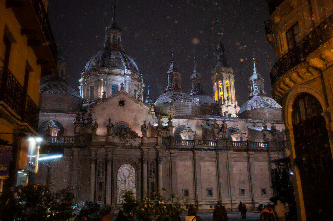
[{"label": "lower black iron balcony on left building, both railing sections", "polygon": [[36,132],[38,130],[39,108],[30,96],[24,98],[24,89],[8,68],[0,67],[0,102],[4,102]]}]

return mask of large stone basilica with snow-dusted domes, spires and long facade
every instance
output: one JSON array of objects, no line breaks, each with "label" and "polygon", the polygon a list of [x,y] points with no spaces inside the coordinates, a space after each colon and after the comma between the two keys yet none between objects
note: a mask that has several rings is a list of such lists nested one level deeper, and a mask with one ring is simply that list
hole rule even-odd
[{"label": "large stone basilica with snow-dusted domes, spires and long facade", "polygon": [[199,212],[212,211],[217,200],[229,211],[239,201],[250,210],[268,203],[271,161],[285,157],[287,147],[281,106],[266,96],[254,58],[241,107],[220,37],[208,93],[195,58],[190,79],[181,79],[171,53],[165,91],[154,102],[138,65],[122,51],[122,34],[114,13],[104,49],[78,75],[79,92],[65,80],[58,48],[58,72],[40,87],[38,132],[40,156],[60,157],[40,161],[36,182],[53,191],[74,187],[78,201],[114,208],[122,190],[140,198],[158,188],[166,198],[188,197]]}]

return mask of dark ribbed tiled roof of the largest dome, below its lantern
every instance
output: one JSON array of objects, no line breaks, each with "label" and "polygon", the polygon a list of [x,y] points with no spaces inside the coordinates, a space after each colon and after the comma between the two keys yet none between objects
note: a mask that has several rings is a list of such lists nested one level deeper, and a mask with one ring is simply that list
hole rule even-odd
[{"label": "dark ribbed tiled roof of the largest dome, below its lantern", "polygon": [[123,51],[103,50],[90,58],[84,71],[94,70],[100,67],[124,69],[125,66],[136,74],[140,74],[138,65]]}]

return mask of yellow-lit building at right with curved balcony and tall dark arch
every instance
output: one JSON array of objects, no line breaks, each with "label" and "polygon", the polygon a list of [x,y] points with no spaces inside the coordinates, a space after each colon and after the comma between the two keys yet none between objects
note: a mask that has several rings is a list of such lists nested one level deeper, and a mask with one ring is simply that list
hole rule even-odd
[{"label": "yellow-lit building at right with curved balcony and tall dark arch", "polygon": [[333,1],[267,0],[270,78],[281,104],[298,220],[329,220],[333,194]]}]

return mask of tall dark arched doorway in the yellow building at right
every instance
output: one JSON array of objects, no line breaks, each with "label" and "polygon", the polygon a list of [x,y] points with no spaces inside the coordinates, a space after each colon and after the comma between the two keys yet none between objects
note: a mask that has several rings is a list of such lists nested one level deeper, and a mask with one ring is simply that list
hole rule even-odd
[{"label": "tall dark arched doorway in the yellow building at right", "polygon": [[307,220],[329,220],[332,200],[332,155],[323,108],[311,94],[303,93],[293,103],[292,124]]}]

